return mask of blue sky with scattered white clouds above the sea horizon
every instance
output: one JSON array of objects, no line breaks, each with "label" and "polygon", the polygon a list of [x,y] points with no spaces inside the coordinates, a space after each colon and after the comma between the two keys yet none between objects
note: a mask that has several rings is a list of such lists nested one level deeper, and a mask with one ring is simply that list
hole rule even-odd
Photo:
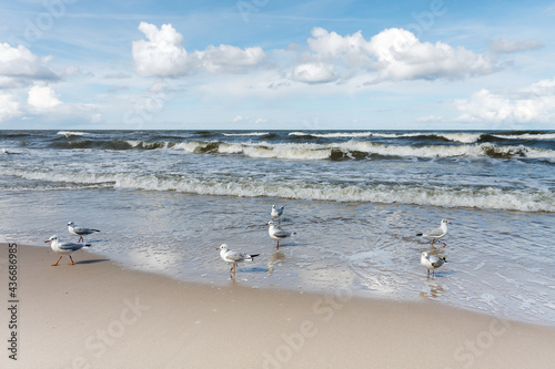
[{"label": "blue sky with scattered white clouds above the sea horizon", "polygon": [[555,129],[555,2],[1,0],[0,129]]}]

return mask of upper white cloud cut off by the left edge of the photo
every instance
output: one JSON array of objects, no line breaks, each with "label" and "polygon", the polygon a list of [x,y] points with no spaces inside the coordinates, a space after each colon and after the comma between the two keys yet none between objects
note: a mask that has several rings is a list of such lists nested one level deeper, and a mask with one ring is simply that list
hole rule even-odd
[{"label": "upper white cloud cut off by the left edge of the photo", "polygon": [[20,88],[32,81],[52,81],[59,76],[49,66],[52,57],[39,58],[23,45],[0,42],[0,89]]}]

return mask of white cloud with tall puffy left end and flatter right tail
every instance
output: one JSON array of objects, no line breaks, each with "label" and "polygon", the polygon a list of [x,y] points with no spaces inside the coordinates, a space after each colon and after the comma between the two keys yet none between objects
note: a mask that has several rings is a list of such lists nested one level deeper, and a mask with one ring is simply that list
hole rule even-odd
[{"label": "white cloud with tall puffy left end and flatter right tail", "polygon": [[181,76],[190,71],[210,73],[241,73],[255,66],[266,55],[262,48],[240,49],[233,45],[210,45],[205,50],[188,52],[183,35],[171,24],[141,22],[139,30],[147,40],[132,43],[137,72],[144,76]]}]

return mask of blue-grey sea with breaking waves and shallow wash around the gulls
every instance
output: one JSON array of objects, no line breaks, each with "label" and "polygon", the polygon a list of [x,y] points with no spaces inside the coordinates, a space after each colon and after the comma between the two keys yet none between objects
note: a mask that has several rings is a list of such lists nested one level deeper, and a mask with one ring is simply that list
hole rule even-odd
[{"label": "blue-grey sea with breaking waves and shallow wash around the gulls", "polygon": [[[555,132],[0,131],[0,235],[173,278],[555,325]],[[268,236],[271,205],[285,205]],[[446,247],[415,235],[452,225]],[[261,254],[235,280],[215,249]],[[423,250],[447,264],[426,278]],[[52,255],[52,262],[56,256]],[[77,255],[75,260],[83,255]]]}]

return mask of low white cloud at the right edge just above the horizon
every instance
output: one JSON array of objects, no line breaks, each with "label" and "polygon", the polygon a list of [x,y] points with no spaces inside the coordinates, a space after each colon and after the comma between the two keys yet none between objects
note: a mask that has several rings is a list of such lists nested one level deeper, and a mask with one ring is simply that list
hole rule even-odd
[{"label": "low white cloud at the right edge just above the horizon", "polygon": [[480,90],[470,99],[455,100],[460,121],[549,123],[555,120],[555,79],[542,80],[504,94]]}]

